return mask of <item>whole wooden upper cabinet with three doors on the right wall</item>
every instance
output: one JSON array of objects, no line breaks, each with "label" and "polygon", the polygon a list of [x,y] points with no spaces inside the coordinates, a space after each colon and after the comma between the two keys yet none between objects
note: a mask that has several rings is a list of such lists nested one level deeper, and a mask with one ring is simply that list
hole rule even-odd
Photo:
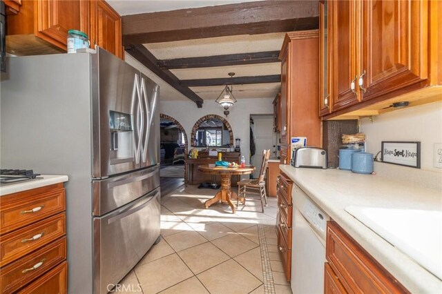
[{"label": "whole wooden upper cabinet with three doors on the right wall", "polygon": [[442,1],[321,0],[319,12],[321,72],[329,66],[320,75],[325,119],[379,115],[398,101],[441,101]]}]

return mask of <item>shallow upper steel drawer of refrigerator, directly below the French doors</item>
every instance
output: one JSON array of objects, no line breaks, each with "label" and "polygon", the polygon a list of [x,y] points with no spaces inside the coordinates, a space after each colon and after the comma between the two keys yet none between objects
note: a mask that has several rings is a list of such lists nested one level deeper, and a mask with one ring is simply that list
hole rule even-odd
[{"label": "shallow upper steel drawer of refrigerator, directly below the French doors", "polygon": [[104,215],[112,210],[133,202],[160,186],[160,166],[153,166],[134,173],[94,180],[93,215]]}]

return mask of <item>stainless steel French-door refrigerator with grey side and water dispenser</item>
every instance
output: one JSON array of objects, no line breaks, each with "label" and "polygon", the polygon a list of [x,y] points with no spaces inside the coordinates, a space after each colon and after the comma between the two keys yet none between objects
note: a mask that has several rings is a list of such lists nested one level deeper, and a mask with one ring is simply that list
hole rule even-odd
[{"label": "stainless steel French-door refrigerator with grey side and water dispenser", "polygon": [[101,48],[7,62],[0,165],[68,175],[68,292],[106,293],[160,236],[159,87]]}]

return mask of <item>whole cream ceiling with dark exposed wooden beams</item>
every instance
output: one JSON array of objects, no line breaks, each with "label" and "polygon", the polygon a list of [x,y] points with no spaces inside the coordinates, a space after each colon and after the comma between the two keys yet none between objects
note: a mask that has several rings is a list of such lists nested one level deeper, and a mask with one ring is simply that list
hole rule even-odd
[{"label": "whole cream ceiling with dark exposed wooden beams", "polygon": [[[123,15],[126,52],[151,70],[160,99],[191,99],[198,107],[226,84],[236,99],[275,97],[285,32],[318,28],[318,1],[108,2]],[[159,2],[184,9],[124,15],[135,11],[131,5],[144,12]],[[192,8],[196,2],[207,7]],[[229,72],[236,72],[233,79]]]}]

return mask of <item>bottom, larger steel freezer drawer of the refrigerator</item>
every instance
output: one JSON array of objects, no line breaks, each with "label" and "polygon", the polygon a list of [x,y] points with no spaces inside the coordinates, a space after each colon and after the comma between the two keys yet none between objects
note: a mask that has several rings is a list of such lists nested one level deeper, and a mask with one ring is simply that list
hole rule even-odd
[{"label": "bottom, larger steel freezer drawer of the refrigerator", "polygon": [[94,293],[107,293],[160,236],[160,188],[93,218]]}]

